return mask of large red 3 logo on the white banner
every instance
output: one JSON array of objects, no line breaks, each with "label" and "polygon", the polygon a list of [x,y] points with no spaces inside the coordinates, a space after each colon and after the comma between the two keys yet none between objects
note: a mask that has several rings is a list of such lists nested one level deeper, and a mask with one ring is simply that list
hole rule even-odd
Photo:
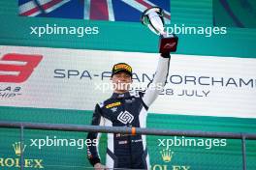
[{"label": "large red 3 logo on the white banner", "polygon": [[[42,60],[42,55],[26,55],[10,53],[3,56],[0,60],[0,71],[16,71],[17,75],[1,73],[0,82],[21,83],[28,79],[34,69],[38,66]],[[1,63],[14,63],[25,62],[24,65],[20,64],[1,64]]]}]

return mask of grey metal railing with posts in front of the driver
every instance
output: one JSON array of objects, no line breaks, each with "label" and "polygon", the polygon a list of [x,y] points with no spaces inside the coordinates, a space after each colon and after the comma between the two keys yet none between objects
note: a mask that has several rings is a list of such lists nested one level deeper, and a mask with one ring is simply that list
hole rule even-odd
[{"label": "grey metal railing with posts in front of the driver", "polygon": [[[67,125],[67,124],[46,124],[46,123],[28,123],[28,122],[3,122],[0,121],[0,128],[20,128],[20,142],[23,143],[23,130],[42,129],[42,130],[61,130],[61,131],[83,131],[83,132],[103,132],[103,133],[125,133],[125,134],[147,134],[147,135],[164,135],[164,136],[186,136],[186,137],[214,137],[227,139],[241,139],[242,144],[242,169],[246,170],[246,141],[256,140],[255,133],[239,132],[214,132],[201,130],[174,130],[160,128],[125,128],[125,127],[99,127],[84,125]],[[21,145],[20,169],[23,170],[23,153]]]}]

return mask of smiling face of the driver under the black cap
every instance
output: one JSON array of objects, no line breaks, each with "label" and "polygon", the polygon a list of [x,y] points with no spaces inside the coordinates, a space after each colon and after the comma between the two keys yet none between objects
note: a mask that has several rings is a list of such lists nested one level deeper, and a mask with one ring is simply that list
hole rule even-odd
[{"label": "smiling face of the driver under the black cap", "polygon": [[129,91],[130,84],[133,82],[132,77],[125,71],[120,71],[112,75],[113,92],[122,94]]}]

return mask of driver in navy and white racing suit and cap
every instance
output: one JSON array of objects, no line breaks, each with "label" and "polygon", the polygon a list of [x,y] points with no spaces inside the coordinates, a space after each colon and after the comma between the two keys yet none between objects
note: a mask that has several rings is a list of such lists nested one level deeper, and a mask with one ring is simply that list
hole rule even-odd
[{"label": "driver in navy and white racing suit and cap", "polygon": [[[112,67],[113,94],[110,99],[97,103],[92,118],[93,126],[146,127],[147,109],[164,87],[169,71],[170,53],[159,55],[153,80],[144,92],[129,91],[132,68],[118,63]],[[161,88],[158,88],[161,87]],[[99,141],[100,133],[89,132],[87,139]],[[150,169],[145,135],[108,133],[106,167],[101,163],[98,147],[88,146],[87,157],[96,170],[103,169]]]}]

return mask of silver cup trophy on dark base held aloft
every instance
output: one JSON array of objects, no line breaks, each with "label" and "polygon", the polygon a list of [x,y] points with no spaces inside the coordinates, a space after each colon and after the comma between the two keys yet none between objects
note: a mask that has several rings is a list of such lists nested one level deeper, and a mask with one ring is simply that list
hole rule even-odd
[{"label": "silver cup trophy on dark base held aloft", "polygon": [[159,7],[151,7],[144,11],[141,21],[153,33],[160,36],[159,52],[169,53],[176,51],[177,37],[175,34],[168,35],[164,31],[164,11]]}]

